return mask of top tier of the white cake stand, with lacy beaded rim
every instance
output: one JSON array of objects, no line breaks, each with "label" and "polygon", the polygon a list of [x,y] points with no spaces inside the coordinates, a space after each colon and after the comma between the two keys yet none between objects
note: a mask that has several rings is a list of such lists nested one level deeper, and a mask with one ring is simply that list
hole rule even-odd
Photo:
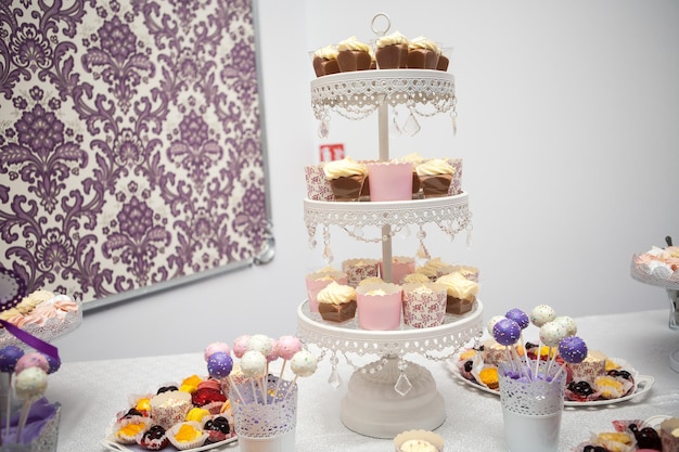
[{"label": "top tier of the white cake stand, with lacy beaded rim", "polygon": [[420,116],[454,111],[454,77],[432,69],[376,69],[332,74],[311,81],[313,115],[336,112],[362,119],[384,105],[409,105]]}]

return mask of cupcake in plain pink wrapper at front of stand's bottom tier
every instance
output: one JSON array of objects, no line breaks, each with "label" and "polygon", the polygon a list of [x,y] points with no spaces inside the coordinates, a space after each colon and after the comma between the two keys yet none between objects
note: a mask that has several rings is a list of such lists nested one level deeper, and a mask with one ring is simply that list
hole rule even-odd
[{"label": "cupcake in plain pink wrapper at front of stand's bottom tier", "polygon": [[367,284],[356,289],[358,325],[363,330],[398,330],[402,292],[396,284]]}]

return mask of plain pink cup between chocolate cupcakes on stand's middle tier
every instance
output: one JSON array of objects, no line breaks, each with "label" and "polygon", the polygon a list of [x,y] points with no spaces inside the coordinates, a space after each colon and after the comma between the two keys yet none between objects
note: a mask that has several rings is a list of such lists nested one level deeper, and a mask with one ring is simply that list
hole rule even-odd
[{"label": "plain pink cup between chocolate cupcakes on stand's middle tier", "polygon": [[412,199],[412,164],[377,162],[368,164],[370,201]]}]

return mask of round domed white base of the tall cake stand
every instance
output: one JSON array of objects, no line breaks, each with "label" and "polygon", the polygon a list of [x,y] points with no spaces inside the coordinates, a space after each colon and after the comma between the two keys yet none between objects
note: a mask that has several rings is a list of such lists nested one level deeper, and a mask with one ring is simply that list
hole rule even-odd
[{"label": "round domed white base of the tall cake stand", "polygon": [[411,429],[433,430],[445,421],[444,398],[432,373],[397,358],[354,372],[342,400],[342,423],[373,438],[394,438]]}]

